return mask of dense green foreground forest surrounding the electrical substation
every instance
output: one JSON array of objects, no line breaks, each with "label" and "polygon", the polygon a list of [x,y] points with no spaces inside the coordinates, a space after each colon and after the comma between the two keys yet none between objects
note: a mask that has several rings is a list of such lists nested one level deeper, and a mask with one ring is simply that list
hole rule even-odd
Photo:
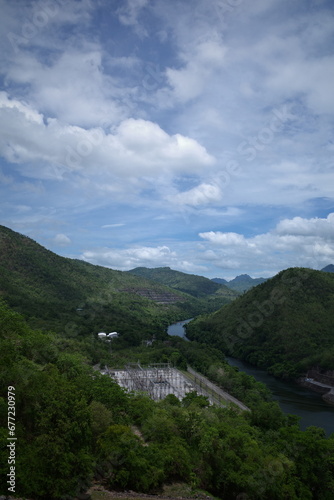
[{"label": "dense green foreground forest surrounding the electrical substation", "polygon": [[4,303],[0,332],[2,494],[8,493],[10,387],[16,401],[17,496],[69,500],[99,481],[151,493],[184,482],[223,500],[333,498],[333,437],[326,439],[315,427],[300,431],[296,417],[283,415],[266,389],[228,367],[219,351],[172,339],[146,348],[146,357],[218,374],[217,380],[239,387],[239,397],[247,394],[251,412],[209,406],[196,393],[160,402],[126,393],[91,366],[99,358],[109,363],[112,356],[121,362],[131,349],[119,345],[110,353],[94,337],[32,330]]}]

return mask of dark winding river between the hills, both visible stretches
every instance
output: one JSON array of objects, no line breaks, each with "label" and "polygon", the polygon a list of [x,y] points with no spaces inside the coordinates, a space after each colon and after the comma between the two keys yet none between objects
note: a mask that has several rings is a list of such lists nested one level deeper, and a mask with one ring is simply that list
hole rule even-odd
[{"label": "dark winding river between the hills, both visible stretches", "polygon": [[[191,319],[170,325],[167,330],[168,334],[186,338],[183,325],[189,323],[189,321]],[[234,358],[226,359],[231,366],[238,367],[241,371],[252,375],[258,382],[265,384],[284,413],[292,413],[300,417],[301,429],[304,430],[310,425],[315,425],[322,427],[327,435],[334,432],[334,406],[326,403],[320,394],[297,384],[276,379],[265,370],[244,361]]]}]

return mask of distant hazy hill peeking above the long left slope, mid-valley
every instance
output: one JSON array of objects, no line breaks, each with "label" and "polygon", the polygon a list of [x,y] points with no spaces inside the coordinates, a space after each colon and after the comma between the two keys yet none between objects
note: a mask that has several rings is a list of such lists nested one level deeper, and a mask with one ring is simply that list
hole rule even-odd
[{"label": "distant hazy hill peeking above the long left slope, mid-valley", "polygon": [[229,290],[225,285],[215,283],[214,281],[197,276],[195,274],[182,273],[175,271],[170,267],[156,267],[150,269],[147,267],[136,267],[129,273],[143,278],[148,278],[162,285],[167,285],[175,290],[188,293],[194,297],[206,297],[208,295],[220,295],[228,299],[235,298],[236,293]]}]

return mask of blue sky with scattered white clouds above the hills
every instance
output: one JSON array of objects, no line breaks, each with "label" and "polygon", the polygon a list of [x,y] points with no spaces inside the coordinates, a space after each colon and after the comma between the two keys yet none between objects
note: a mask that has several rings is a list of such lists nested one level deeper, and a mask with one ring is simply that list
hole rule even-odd
[{"label": "blue sky with scattered white clouds above the hills", "polygon": [[0,224],[112,269],[334,263],[332,0],[0,0]]}]

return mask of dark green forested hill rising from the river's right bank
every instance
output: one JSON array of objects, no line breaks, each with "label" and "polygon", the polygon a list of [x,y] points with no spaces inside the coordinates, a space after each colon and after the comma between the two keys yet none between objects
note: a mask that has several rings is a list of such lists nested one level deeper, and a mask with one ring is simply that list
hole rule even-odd
[{"label": "dark green forested hill rising from the river's right bank", "polygon": [[334,275],[290,268],[216,313],[189,323],[190,339],[296,377],[334,369]]}]

